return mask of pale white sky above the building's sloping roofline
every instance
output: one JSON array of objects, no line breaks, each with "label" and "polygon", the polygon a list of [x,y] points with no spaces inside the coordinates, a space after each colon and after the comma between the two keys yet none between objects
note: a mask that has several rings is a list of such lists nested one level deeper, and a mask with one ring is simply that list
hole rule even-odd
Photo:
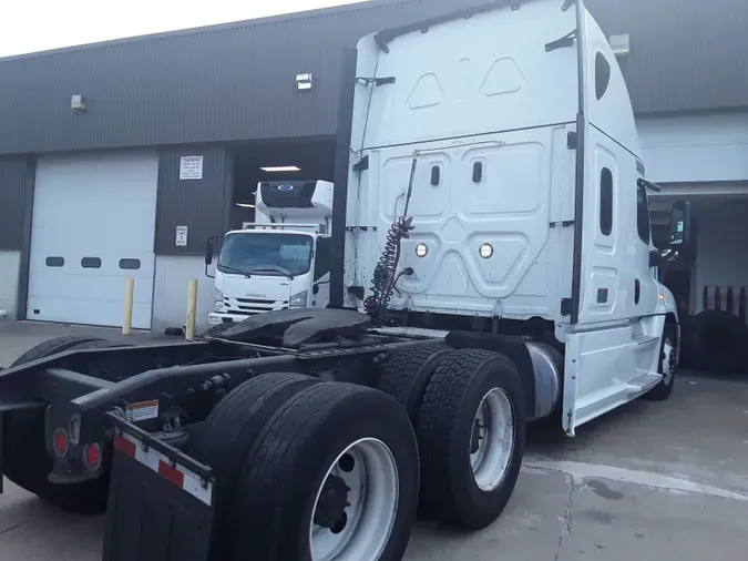
[{"label": "pale white sky above the building's sloping roofline", "polygon": [[360,0],[8,0],[0,57],[312,10]]}]

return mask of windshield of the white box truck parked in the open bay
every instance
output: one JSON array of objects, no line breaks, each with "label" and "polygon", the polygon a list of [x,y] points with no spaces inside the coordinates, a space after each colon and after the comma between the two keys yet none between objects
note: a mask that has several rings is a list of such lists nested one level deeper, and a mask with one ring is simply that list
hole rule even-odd
[{"label": "windshield of the white box truck parked in the open bay", "polygon": [[286,233],[237,233],[224,239],[218,271],[225,274],[298,276],[309,272],[314,237]]}]

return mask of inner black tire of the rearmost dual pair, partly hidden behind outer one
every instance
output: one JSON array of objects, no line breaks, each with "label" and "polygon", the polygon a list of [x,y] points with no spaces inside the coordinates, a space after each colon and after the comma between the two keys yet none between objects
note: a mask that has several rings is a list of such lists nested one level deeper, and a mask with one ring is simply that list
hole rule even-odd
[{"label": "inner black tire of the rearmost dual pair, partly hidden behind outer one", "polygon": [[[315,384],[321,380],[300,374],[258,376],[222,399],[196,430],[188,453],[215,470],[216,528],[223,528],[226,498],[235,488],[242,461],[259,431],[283,404]],[[218,530],[213,548],[219,552],[224,541]]]}]

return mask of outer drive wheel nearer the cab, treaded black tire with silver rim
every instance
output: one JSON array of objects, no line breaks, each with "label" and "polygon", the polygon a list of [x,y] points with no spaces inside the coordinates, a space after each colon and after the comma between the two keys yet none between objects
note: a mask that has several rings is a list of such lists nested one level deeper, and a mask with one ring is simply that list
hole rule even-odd
[{"label": "outer drive wheel nearer the cab, treaded black tire with silver rim", "polygon": [[461,349],[442,360],[417,425],[424,514],[468,529],[501,514],[520,475],[524,404],[506,356]]}]

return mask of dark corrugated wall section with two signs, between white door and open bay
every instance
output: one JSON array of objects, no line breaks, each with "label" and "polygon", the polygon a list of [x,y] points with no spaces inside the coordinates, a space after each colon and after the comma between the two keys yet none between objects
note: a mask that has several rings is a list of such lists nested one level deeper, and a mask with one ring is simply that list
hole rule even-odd
[{"label": "dark corrugated wall section with two signs, between white door and open bay", "polygon": [[[202,180],[180,180],[182,156],[203,156]],[[155,251],[201,255],[211,236],[222,235],[232,204],[230,154],[219,146],[166,149],[158,164]],[[187,226],[187,246],[177,247],[176,227]]]}]

